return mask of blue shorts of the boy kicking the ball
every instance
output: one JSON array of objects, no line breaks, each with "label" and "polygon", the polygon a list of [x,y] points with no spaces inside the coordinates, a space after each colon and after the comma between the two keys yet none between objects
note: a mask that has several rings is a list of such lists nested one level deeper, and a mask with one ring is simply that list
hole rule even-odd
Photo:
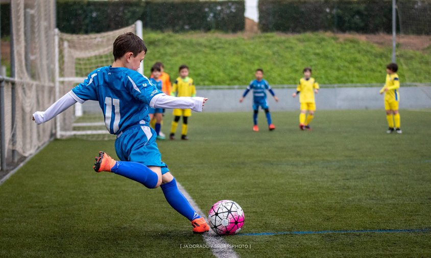
[{"label": "blue shorts of the boy kicking the ball", "polygon": [[161,161],[157,148],[156,132],[150,126],[133,125],[115,140],[115,151],[121,161],[133,161],[146,166],[160,167],[162,174],[169,172],[167,165]]}]

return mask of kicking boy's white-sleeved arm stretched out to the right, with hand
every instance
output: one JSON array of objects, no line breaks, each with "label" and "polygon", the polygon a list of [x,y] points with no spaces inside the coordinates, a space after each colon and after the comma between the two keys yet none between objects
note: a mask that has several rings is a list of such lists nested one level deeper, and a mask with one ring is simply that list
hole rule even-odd
[{"label": "kicking boy's white-sleeved arm stretched out to the right, with hand", "polygon": [[165,94],[155,95],[150,102],[152,108],[162,109],[191,109],[202,112],[208,98],[204,97],[174,97]]}]

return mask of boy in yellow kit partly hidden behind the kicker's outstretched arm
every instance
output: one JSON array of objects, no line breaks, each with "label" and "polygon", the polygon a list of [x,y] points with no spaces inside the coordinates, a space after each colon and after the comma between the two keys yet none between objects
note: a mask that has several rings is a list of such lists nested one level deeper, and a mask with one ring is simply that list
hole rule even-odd
[{"label": "boy in yellow kit partly hidden behind the kicker's outstretched arm", "polygon": [[[196,96],[196,87],[193,83],[193,79],[188,77],[188,66],[181,65],[179,68],[180,76],[175,81],[172,86],[172,96],[177,97],[194,97]],[[190,109],[174,109],[174,121],[172,122],[171,135],[169,138],[171,140],[175,139],[175,132],[177,131],[178,121],[180,117],[183,117],[183,125],[181,130],[181,140],[188,140],[187,138],[187,119],[191,116]]]}]

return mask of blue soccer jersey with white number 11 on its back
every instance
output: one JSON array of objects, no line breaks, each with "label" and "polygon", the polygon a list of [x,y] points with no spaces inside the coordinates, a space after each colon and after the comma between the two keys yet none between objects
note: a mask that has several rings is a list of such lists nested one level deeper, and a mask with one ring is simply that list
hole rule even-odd
[{"label": "blue soccer jersey with white number 11 on its back", "polygon": [[150,101],[162,93],[137,71],[111,66],[92,71],[72,92],[80,103],[86,100],[99,101],[106,128],[111,134],[119,134],[136,124],[148,125]]}]

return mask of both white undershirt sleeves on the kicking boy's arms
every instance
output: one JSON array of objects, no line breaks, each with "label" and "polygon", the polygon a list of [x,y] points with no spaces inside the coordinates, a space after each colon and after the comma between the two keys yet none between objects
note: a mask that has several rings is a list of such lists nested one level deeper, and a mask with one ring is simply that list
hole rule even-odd
[{"label": "both white undershirt sleeves on the kicking boy's arms", "polygon": [[[33,114],[36,123],[41,124],[49,121],[68,109],[70,106],[73,106],[77,102],[73,95],[75,94],[70,91],[64,94],[64,96],[45,111],[36,111]],[[203,97],[173,97],[165,94],[157,94],[151,99],[150,107],[163,109],[191,109],[196,112],[202,112],[203,100]]]}]

